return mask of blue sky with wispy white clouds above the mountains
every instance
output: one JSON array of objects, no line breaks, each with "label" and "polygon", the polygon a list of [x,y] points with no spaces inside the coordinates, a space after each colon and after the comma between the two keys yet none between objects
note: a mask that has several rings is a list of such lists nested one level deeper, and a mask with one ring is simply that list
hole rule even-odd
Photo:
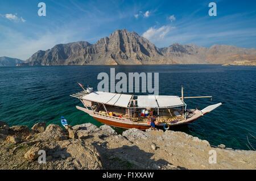
[{"label": "blue sky with wispy white clouds above the mountains", "polygon": [[[38,16],[38,3],[46,16]],[[217,16],[209,16],[210,2]],[[95,43],[117,29],[135,31],[157,47],[173,43],[256,48],[256,1],[0,1],[0,57],[26,60],[73,41]]]}]

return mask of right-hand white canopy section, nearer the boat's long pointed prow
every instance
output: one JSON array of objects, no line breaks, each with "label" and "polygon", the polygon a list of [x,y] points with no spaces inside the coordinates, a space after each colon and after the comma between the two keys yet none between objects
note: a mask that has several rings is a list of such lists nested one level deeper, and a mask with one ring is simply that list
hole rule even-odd
[{"label": "right-hand white canopy section, nearer the boat's long pointed prow", "polygon": [[179,96],[172,95],[139,95],[137,99],[138,107],[178,107],[185,106]]}]

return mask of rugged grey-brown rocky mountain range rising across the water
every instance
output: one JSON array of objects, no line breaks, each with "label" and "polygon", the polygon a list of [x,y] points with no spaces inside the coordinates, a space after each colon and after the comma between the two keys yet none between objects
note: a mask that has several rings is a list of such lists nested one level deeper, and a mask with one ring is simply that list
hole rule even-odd
[{"label": "rugged grey-brown rocky mountain range rising across the water", "polygon": [[147,64],[233,64],[255,61],[256,49],[230,45],[172,44],[158,48],[136,32],[117,30],[98,40],[58,44],[34,53],[23,65],[147,65]]}]

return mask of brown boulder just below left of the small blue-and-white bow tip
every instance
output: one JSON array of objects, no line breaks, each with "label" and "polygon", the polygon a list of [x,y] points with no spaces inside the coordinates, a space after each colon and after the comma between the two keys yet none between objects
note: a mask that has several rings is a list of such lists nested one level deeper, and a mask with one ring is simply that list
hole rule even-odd
[{"label": "brown boulder just below left of the small blue-and-white bow tip", "polygon": [[60,141],[67,140],[68,134],[56,124],[50,124],[46,131],[39,133],[37,138],[42,141]]}]

